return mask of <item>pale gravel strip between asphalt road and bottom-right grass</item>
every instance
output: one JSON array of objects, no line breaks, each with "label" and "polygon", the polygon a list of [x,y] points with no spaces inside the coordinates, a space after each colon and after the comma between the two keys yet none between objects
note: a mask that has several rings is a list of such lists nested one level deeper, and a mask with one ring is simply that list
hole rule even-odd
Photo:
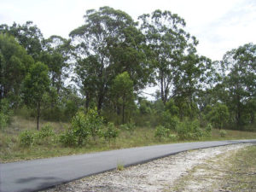
[{"label": "pale gravel strip between asphalt road and bottom-right grass", "polygon": [[[116,170],[84,177],[45,191],[166,191],[178,178],[186,176],[194,166],[205,163],[218,154],[238,150],[248,145],[234,144],[183,152],[143,165],[127,167],[123,171]],[[196,183],[194,186],[196,187]]]}]

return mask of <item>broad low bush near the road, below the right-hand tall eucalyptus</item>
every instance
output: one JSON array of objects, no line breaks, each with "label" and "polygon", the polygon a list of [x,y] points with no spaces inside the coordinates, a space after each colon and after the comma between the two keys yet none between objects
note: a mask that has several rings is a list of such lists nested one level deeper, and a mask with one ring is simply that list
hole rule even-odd
[{"label": "broad low bush near the road, below the right-hand tall eucalyptus", "polygon": [[180,139],[200,139],[203,136],[203,132],[200,128],[198,120],[189,121],[184,120],[177,125],[177,135]]}]

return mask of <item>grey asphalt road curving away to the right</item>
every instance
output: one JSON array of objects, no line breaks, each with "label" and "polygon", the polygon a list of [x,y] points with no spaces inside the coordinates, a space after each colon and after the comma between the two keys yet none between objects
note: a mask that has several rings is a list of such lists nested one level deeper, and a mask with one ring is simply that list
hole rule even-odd
[{"label": "grey asphalt road curving away to the right", "polygon": [[256,143],[256,139],[165,144],[0,164],[0,191],[38,191],[56,184],[113,170],[118,164],[131,166],[190,149],[233,143]]}]

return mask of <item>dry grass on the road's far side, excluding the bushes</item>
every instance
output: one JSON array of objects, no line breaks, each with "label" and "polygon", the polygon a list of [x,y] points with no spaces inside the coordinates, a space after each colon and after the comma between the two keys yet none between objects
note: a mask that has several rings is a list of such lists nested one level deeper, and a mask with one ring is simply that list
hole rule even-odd
[{"label": "dry grass on the road's far side, excluding the bushes", "polygon": [[[69,124],[61,122],[47,122],[42,120],[40,122],[40,126],[42,127],[47,123],[54,128],[55,136],[34,144],[30,148],[24,148],[20,146],[19,134],[21,131],[25,130],[36,131],[36,121],[35,119],[24,119],[22,117],[15,116],[8,128],[2,131],[0,130],[0,161],[13,162],[18,160],[32,160],[70,154],[84,154],[118,148],[184,142],[173,141],[168,138],[159,140],[154,137],[153,128],[137,127],[133,132],[120,131],[119,137],[117,137],[116,140],[111,143],[106,142],[103,138],[99,138],[96,140],[96,142],[91,139],[86,146],[82,148],[64,148],[61,146],[61,143],[57,142],[57,135],[61,131],[64,131],[65,127],[68,127]],[[227,130],[226,137],[220,137],[218,130],[212,130],[212,137],[203,137],[200,141],[250,138],[256,138],[256,132]],[[193,140],[185,142],[193,142]]]}]

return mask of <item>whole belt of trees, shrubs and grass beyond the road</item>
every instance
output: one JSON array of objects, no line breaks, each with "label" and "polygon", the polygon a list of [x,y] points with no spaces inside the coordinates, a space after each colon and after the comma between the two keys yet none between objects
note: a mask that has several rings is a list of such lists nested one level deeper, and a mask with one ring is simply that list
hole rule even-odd
[{"label": "whole belt of trees, shrubs and grass beyond the road", "polygon": [[197,45],[183,18],[159,9],[138,20],[87,10],[69,38],[0,25],[0,159],[256,138],[256,45],[222,61]]}]

